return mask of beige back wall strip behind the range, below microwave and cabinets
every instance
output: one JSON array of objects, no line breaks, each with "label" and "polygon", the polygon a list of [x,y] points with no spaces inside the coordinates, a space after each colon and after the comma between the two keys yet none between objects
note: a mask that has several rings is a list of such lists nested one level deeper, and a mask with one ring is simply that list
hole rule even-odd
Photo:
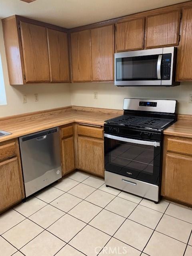
[{"label": "beige back wall strip behind the range, below microwave and cabinets", "polygon": [[[94,100],[93,93],[98,92]],[[117,87],[114,83],[74,83],[71,103],[75,106],[122,109],[124,98],[156,98],[178,100],[179,114],[192,114],[192,82],[175,87]]]}]

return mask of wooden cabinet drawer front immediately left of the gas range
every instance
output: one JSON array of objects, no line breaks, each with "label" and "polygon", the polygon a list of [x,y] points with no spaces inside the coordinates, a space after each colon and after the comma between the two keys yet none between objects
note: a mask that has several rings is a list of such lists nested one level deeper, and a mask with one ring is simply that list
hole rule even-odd
[{"label": "wooden cabinet drawer front immediately left of the gas range", "polygon": [[103,128],[78,125],[78,135],[103,139]]}]

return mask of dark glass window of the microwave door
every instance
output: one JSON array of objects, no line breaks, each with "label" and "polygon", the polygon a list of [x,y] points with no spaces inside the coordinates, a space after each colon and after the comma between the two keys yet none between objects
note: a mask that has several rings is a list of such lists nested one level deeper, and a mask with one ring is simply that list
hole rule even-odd
[{"label": "dark glass window of the microwave door", "polygon": [[158,80],[158,56],[116,58],[116,81]]}]

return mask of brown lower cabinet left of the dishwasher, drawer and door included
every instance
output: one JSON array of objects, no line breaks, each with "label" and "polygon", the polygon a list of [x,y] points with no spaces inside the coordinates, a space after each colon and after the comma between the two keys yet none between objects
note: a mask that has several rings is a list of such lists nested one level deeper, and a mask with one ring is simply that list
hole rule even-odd
[{"label": "brown lower cabinet left of the dishwasher, drawer and door included", "polygon": [[18,141],[0,144],[0,212],[24,198]]}]

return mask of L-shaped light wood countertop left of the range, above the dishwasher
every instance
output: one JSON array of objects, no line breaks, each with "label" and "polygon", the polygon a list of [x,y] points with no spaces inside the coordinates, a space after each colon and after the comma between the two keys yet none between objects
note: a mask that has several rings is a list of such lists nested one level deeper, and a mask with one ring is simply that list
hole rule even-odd
[{"label": "L-shaped light wood countertop left of the range, above the dishwasher", "polygon": [[0,130],[12,133],[1,137],[0,142],[72,122],[103,126],[105,120],[119,116],[122,113],[121,110],[66,107],[0,118]]}]

